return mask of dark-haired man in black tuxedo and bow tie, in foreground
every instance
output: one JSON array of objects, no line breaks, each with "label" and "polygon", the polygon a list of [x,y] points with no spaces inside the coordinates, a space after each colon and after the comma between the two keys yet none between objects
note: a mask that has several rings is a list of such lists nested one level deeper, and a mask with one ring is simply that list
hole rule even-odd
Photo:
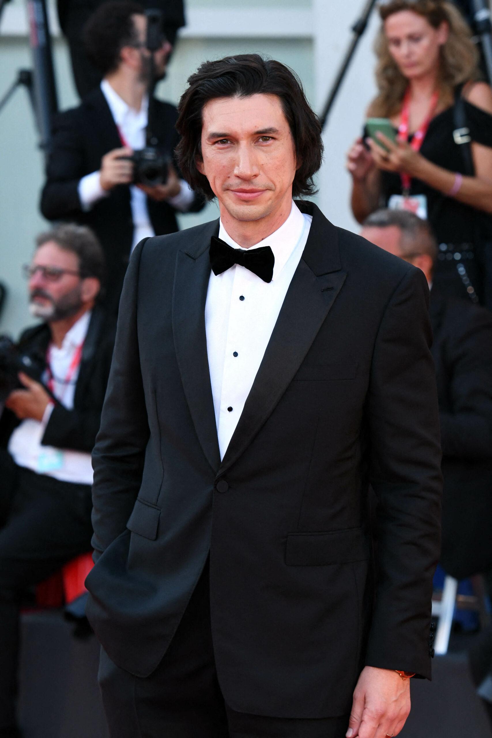
[{"label": "dark-haired man in black tuxedo and bow tie, in foreground", "polygon": [[181,171],[221,219],[137,246],[93,455],[111,737],[396,735],[439,556],[426,280],[293,201],[322,140],[283,64],[189,83]]}]

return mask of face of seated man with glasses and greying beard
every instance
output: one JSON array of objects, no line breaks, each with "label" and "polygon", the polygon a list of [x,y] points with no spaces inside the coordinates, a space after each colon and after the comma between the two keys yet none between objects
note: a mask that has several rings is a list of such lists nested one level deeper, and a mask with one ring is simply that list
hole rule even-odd
[{"label": "face of seated man with glasses and greying beard", "polygon": [[[35,269],[36,266],[45,267]],[[83,306],[77,255],[60,249],[55,241],[40,246],[31,263],[29,303],[32,315],[43,320],[63,320]]]}]

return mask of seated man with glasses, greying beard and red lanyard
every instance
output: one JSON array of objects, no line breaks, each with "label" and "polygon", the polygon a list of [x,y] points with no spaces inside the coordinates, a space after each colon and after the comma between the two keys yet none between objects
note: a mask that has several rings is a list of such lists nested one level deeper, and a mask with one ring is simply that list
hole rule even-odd
[{"label": "seated man with glasses, greying beard and red lanyard", "polygon": [[1,738],[18,736],[22,593],[91,550],[91,450],[114,345],[114,325],[96,305],[103,267],[100,245],[85,227],[61,226],[38,238],[26,272],[31,312],[43,322],[24,331],[17,346],[30,373],[19,374],[12,391],[1,378]]}]

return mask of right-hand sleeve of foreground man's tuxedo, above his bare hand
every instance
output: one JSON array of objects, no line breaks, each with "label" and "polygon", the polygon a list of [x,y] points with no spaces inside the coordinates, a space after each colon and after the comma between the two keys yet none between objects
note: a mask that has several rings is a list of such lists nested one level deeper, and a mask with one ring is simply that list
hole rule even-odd
[{"label": "right-hand sleeve of foreground man's tuxedo, above his bare hand", "polygon": [[429,289],[403,277],[379,326],[368,391],[376,590],[366,663],[431,677],[432,578],[440,554],[439,416]]}]

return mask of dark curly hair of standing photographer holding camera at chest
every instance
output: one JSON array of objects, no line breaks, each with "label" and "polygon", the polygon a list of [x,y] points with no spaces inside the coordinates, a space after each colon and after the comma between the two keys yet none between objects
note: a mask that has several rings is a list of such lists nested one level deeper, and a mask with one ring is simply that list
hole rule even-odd
[{"label": "dark curly hair of standing photographer holding camera at chest", "polygon": [[123,46],[138,44],[132,16],[144,13],[142,5],[135,2],[110,0],[103,2],[86,22],[82,31],[83,44],[103,77],[118,68]]}]

